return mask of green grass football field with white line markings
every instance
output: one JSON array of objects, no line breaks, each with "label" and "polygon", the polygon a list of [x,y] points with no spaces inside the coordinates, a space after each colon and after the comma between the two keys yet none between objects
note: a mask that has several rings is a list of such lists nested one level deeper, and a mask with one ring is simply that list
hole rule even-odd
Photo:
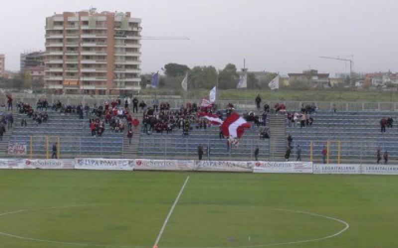
[{"label": "green grass football field with white line markings", "polygon": [[396,248],[397,188],[395,176],[1,170],[0,247]]}]

